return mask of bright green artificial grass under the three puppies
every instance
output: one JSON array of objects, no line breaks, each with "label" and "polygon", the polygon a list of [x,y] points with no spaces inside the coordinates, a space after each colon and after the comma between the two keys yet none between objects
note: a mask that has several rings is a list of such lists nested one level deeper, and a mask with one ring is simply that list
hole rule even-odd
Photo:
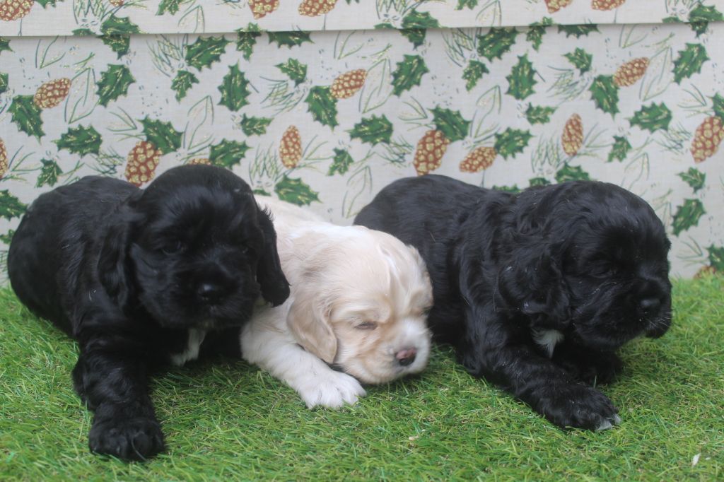
[{"label": "bright green artificial grass under the three puppies", "polygon": [[88,452],[75,344],[0,290],[0,479],[723,480],[723,293],[720,277],[675,283],[668,334],[628,344],[602,387],[623,419],[609,431],[555,428],[447,348],[338,411],[232,360],[156,377],[168,452],[126,463]]}]

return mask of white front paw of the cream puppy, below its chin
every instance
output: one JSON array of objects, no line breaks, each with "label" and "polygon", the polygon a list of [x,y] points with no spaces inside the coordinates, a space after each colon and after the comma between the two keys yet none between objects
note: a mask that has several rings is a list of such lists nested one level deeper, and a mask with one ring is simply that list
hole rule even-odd
[{"label": "white front paw of the cream puppy, below its chin", "polygon": [[339,371],[317,373],[300,386],[298,390],[307,407],[316,406],[339,408],[354,405],[366,392],[353,376]]}]

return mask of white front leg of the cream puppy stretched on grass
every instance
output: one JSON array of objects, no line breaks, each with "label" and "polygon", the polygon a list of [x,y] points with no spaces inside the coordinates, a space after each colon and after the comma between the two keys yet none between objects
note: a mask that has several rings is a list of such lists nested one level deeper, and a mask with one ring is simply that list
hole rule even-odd
[{"label": "white front leg of the cream puppy stretched on grass", "polygon": [[332,370],[316,355],[300,347],[290,333],[264,323],[261,318],[267,313],[247,324],[242,331],[244,360],[256,363],[291,386],[309,408],[354,405],[366,394],[353,376]]}]

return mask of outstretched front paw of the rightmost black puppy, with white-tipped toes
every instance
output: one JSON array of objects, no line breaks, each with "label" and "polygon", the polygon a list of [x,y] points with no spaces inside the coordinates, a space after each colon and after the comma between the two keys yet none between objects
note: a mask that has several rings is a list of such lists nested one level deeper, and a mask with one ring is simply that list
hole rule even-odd
[{"label": "outstretched front paw of the rightmost black puppy, with white-tipped toes", "polygon": [[536,409],[557,426],[605,430],[618,425],[618,410],[604,394],[582,384],[550,387]]}]

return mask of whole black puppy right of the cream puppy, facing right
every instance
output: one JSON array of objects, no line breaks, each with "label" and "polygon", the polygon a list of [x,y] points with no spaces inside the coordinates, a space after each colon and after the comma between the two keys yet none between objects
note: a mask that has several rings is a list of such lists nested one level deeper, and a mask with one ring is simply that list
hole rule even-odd
[{"label": "whole black puppy right of the cream puppy, facing right", "polygon": [[652,208],[615,185],[512,195],[443,176],[400,179],[355,223],[418,248],[434,287],[433,333],[471,373],[558,426],[618,423],[587,384],[613,378],[624,342],[670,325],[670,242]]}]

